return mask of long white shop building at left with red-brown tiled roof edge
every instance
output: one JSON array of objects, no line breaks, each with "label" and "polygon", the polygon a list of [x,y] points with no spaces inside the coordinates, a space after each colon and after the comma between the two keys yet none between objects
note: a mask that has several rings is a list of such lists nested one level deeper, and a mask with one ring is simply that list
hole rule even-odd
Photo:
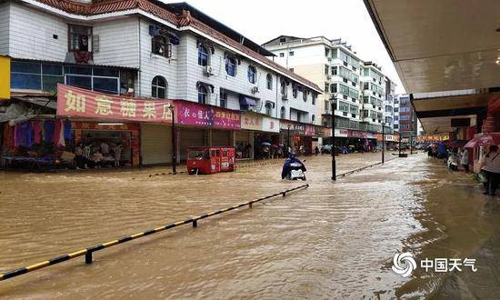
[{"label": "long white shop building at left with red-brown tiled roof edge", "polygon": [[[26,96],[54,101],[57,84],[178,101],[178,161],[185,159],[190,145],[234,145],[240,152],[252,148],[243,156],[253,158],[261,142],[310,144],[322,132],[315,128],[322,93],[318,85],[266,58],[272,54],[265,48],[185,3],[4,1],[0,24],[0,55],[11,61],[11,101],[25,105]],[[239,123],[183,123],[188,115],[180,109],[189,106],[185,103],[192,103],[197,113],[220,111]],[[78,142],[127,135],[126,143],[138,147],[129,150],[129,156],[139,157],[134,165],[167,163],[173,155],[167,123],[138,121],[128,126],[131,133],[97,133],[99,126],[89,124],[99,120],[71,121],[75,128],[95,130],[75,132],[82,135]],[[294,138],[288,138],[290,131]],[[312,145],[306,148],[311,151]]]}]

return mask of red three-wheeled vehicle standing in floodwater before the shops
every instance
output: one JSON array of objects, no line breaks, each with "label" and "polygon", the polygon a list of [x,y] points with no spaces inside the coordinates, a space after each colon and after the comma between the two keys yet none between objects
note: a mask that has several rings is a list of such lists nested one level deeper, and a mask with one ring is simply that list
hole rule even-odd
[{"label": "red three-wheeled vehicle standing in floodwater before the shops", "polygon": [[194,175],[235,171],[235,155],[235,147],[189,147],[187,173]]}]

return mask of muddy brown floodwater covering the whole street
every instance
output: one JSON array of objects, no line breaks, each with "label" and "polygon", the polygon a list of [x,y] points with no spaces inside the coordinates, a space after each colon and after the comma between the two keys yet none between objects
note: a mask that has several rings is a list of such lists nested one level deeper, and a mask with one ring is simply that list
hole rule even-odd
[{"label": "muddy brown floodwater covering the whole street", "polygon": [[[341,155],[337,168],[379,160]],[[330,156],[305,165],[307,189],[97,252],[92,265],[79,257],[2,281],[0,297],[439,297],[461,289],[447,284],[452,275],[403,278],[391,270],[393,256],[472,257],[498,235],[498,198],[426,155],[335,183]],[[0,272],[302,184],[282,181],[280,168],[0,173]]]}]

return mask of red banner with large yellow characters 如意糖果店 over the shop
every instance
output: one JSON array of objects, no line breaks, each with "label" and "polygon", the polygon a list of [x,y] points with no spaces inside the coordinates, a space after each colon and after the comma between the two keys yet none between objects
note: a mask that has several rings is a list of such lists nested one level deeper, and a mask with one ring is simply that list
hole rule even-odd
[{"label": "red banner with large yellow characters \u5982\u610f\u7cd6\u679c\u5e97 over the shop", "polygon": [[69,85],[57,85],[57,115],[136,122],[170,123],[168,100],[107,95]]}]

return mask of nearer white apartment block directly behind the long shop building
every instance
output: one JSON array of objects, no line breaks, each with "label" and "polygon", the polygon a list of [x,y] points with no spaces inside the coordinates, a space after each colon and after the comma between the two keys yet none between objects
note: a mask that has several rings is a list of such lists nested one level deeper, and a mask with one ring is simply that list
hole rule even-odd
[{"label": "nearer white apartment block directly behind the long shop building", "polygon": [[306,76],[325,93],[318,102],[318,123],[329,125],[330,100],[336,95],[335,115],[341,123],[360,121],[359,67],[361,60],[351,47],[340,40],[328,40],[324,36],[299,38],[278,36],[264,44],[274,53],[274,60],[298,75]]}]

